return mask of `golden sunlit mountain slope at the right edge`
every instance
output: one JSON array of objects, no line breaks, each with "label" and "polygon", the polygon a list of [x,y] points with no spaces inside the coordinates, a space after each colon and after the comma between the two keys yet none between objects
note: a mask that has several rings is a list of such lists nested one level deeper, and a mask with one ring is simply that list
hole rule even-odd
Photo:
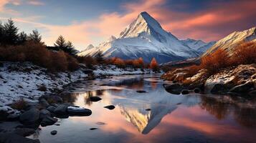
[{"label": "golden sunlit mountain slope at the right edge", "polygon": [[247,29],[245,31],[234,31],[232,34],[224,37],[217,41],[210,49],[208,49],[202,56],[207,56],[213,51],[219,48],[225,49],[232,54],[232,51],[236,48],[238,44],[242,41],[255,41],[256,42],[256,27]]}]

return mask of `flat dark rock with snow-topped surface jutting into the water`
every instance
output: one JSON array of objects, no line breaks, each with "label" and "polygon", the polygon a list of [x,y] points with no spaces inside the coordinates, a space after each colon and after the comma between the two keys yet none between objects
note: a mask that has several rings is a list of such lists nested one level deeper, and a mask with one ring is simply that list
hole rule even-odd
[{"label": "flat dark rock with snow-topped surface jutting into the water", "polygon": [[67,107],[67,112],[71,115],[76,116],[90,116],[92,114],[92,111],[90,109],[85,109],[82,107]]}]

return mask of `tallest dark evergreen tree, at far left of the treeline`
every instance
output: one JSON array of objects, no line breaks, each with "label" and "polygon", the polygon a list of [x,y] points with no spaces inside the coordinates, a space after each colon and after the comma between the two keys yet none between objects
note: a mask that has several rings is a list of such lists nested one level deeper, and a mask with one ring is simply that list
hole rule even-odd
[{"label": "tallest dark evergreen tree, at far left of the treeline", "polygon": [[4,44],[14,45],[19,38],[18,35],[19,29],[14,25],[14,21],[12,19],[8,19],[8,21],[4,24]]}]

